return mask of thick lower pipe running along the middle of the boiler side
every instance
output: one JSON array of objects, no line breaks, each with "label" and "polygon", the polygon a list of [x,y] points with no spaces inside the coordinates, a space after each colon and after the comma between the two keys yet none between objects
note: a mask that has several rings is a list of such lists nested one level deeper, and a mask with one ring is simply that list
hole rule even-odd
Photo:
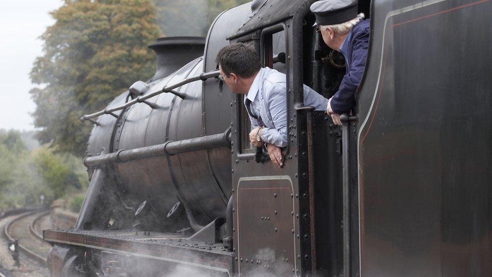
[{"label": "thick lower pipe running along the middle of the boiler side", "polygon": [[145,146],[130,150],[119,150],[118,152],[88,156],[84,159],[86,167],[94,167],[96,165],[127,162],[130,160],[150,158],[157,156],[172,156],[174,154],[205,150],[218,147],[230,147],[230,127],[221,134],[184,139],[178,141],[167,141],[162,144]]}]

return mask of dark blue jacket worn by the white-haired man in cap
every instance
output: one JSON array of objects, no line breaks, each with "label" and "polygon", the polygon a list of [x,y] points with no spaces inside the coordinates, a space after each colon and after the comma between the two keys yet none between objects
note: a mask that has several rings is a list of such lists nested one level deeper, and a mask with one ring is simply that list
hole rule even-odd
[{"label": "dark blue jacket worn by the white-haired man in cap", "polygon": [[361,20],[352,28],[345,57],[346,74],[338,91],[331,98],[331,108],[337,114],[348,113],[355,106],[354,93],[364,72],[367,46],[369,44],[369,20]]}]

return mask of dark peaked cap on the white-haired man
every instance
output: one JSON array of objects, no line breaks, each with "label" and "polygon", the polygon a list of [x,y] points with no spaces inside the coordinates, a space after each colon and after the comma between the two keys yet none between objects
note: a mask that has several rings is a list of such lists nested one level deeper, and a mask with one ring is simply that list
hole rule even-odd
[{"label": "dark peaked cap on the white-haired man", "polygon": [[340,24],[357,17],[357,0],[317,1],[310,10],[316,16],[315,25]]}]

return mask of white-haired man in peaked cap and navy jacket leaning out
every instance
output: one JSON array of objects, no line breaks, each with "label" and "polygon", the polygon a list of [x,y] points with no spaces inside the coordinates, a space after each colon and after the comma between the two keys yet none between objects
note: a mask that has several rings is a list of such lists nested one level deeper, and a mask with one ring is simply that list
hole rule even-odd
[{"label": "white-haired man in peaked cap and navy jacket leaning out", "polygon": [[355,107],[354,93],[364,72],[367,45],[369,43],[369,20],[357,14],[355,0],[324,0],[311,5],[316,16],[318,30],[325,43],[345,57],[346,74],[338,91],[328,101],[326,112],[333,123],[341,125],[340,115],[350,113]]}]

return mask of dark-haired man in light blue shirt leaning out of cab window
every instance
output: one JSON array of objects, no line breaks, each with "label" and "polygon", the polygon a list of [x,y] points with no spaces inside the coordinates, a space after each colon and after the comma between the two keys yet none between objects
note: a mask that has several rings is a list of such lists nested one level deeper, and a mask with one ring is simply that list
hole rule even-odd
[{"label": "dark-haired man in light blue shirt leaning out of cab window", "polygon": [[[272,162],[283,166],[281,147],[287,141],[286,76],[268,67],[261,68],[255,49],[244,43],[232,43],[217,54],[220,76],[230,90],[244,95],[253,130],[250,141],[256,147],[267,145]],[[304,85],[304,105],[325,110],[328,99]]]}]

